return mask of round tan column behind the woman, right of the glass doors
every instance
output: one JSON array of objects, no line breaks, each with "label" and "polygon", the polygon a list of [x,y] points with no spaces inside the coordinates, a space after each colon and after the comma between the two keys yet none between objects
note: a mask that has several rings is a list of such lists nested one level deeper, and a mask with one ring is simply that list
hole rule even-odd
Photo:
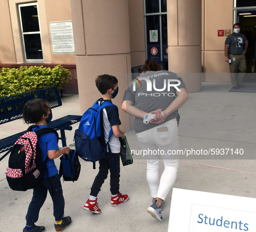
[{"label": "round tan column behind the woman, right of the glass doors", "polygon": [[[201,73],[201,5],[201,0],[167,1],[170,71]],[[201,90],[201,75],[184,75],[182,78],[188,92]]]}]

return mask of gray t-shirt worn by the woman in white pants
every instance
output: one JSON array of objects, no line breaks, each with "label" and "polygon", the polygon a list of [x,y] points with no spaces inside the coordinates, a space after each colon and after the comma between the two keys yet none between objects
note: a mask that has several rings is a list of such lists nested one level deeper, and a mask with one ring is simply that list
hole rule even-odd
[{"label": "gray t-shirt worn by the woman in white pants", "polygon": [[[123,101],[131,101],[136,108],[147,113],[158,109],[165,110],[176,98],[176,91],[185,87],[184,82],[175,73],[170,71],[150,71],[134,79],[127,87]],[[177,118],[177,111],[168,116],[165,121]],[[158,124],[144,124],[142,118],[135,118],[134,130],[136,133],[149,130]]]}]

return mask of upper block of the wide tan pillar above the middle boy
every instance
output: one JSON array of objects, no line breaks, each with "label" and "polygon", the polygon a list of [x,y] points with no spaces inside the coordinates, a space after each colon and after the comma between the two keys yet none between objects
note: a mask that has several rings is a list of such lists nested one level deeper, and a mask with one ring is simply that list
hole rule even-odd
[{"label": "upper block of the wide tan pillar above the middle boy", "polygon": [[130,53],[127,1],[82,0],[87,55]]}]

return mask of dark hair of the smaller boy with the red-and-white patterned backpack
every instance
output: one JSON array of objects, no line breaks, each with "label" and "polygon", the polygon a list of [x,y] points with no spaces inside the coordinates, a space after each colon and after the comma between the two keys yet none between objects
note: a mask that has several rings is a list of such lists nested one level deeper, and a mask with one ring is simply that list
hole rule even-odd
[{"label": "dark hair of the smaller boy with the red-and-white patterned backpack", "polygon": [[28,101],[23,108],[23,119],[26,124],[37,123],[42,120],[43,114],[47,114],[49,106],[43,99]]}]

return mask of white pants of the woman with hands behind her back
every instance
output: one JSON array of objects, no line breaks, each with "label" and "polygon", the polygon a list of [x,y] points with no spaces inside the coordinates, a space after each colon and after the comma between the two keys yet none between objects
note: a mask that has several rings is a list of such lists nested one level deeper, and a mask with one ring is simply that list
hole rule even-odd
[{"label": "white pants of the woman with hands behind her back", "polygon": [[[168,131],[159,132],[158,129],[161,127],[167,127]],[[152,129],[136,133],[136,135],[141,148],[147,150],[147,153],[149,153],[149,155],[146,156],[146,178],[151,195],[153,198],[159,197],[162,200],[165,200],[165,197],[176,180],[178,170],[179,161],[177,155],[171,155],[172,150],[179,149],[176,118],[163,124],[159,124]],[[149,151],[151,151],[152,154]],[[165,169],[160,176],[159,169],[161,156]]]}]

